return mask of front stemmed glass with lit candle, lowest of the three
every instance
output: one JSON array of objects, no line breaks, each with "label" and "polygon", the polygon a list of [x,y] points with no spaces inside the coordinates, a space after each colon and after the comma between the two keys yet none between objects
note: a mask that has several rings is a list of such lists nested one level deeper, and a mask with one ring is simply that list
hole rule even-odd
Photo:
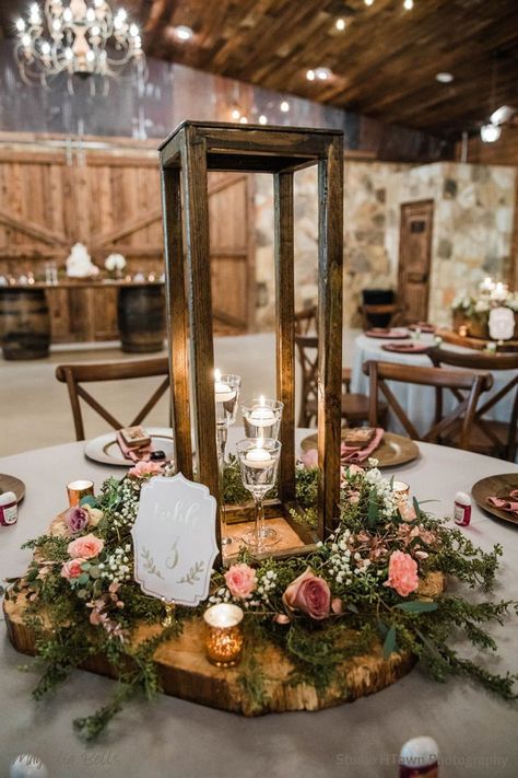
[{"label": "front stemmed glass with lit candle, lowest of the three", "polygon": [[256,508],[254,529],[242,539],[256,554],[280,539],[276,532],[267,533],[264,527],[264,497],[275,486],[280,454],[281,443],[272,438],[247,438],[237,444],[243,486],[251,492]]}]

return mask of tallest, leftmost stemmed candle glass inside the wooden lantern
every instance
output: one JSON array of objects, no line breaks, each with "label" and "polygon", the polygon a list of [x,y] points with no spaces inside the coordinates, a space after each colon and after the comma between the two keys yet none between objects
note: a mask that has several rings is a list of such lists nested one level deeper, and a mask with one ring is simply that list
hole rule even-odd
[{"label": "tallest, leftmost stemmed candle glass inside the wooden lantern", "polygon": [[220,473],[220,520],[222,523],[222,546],[228,546],[232,537],[226,534],[226,511],[224,497],[225,449],[228,427],[235,423],[239,402],[240,375],[222,374],[214,370],[214,400],[216,416],[217,467]]}]

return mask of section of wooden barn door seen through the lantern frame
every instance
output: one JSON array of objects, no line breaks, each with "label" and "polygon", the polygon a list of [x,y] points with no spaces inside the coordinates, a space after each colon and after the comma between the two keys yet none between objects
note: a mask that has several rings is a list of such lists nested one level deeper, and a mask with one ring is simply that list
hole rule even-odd
[{"label": "section of wooden barn door seen through the lantern frame", "polygon": [[250,177],[209,174],[209,224],[214,332],[245,333],[254,326],[255,267]]}]

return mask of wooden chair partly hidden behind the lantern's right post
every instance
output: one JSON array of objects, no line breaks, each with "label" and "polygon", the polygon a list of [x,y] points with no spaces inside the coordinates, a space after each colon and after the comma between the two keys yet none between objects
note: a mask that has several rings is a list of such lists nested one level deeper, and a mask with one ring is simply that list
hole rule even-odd
[{"label": "wooden chair partly hidden behind the lantern's right post", "polygon": [[[310,427],[318,413],[318,338],[313,335],[296,335],[295,346],[302,368],[301,409],[298,427]],[[342,419],[349,427],[358,427],[368,421],[369,402],[367,395],[353,394],[344,390],[342,376]],[[385,406],[385,410],[387,406]],[[382,416],[384,408],[380,408]]]}]

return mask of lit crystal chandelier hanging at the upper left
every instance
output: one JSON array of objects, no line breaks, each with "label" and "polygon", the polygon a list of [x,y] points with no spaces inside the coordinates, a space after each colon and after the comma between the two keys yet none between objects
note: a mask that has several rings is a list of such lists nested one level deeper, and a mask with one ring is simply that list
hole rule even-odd
[{"label": "lit crystal chandelier hanging at the upper left", "polygon": [[42,11],[31,5],[26,19],[15,22],[15,56],[25,83],[49,85],[52,77],[64,73],[73,92],[73,77],[108,79],[133,72],[145,77],[145,56],[137,24],[125,9],[113,13],[106,0],[45,0]]}]

